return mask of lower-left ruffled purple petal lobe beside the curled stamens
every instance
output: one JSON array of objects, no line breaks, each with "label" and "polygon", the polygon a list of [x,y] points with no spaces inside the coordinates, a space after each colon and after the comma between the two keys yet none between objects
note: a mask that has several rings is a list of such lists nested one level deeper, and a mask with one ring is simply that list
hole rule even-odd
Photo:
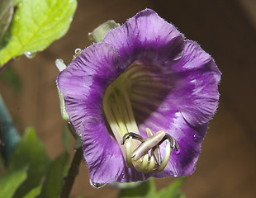
[{"label": "lower-left ruffled purple petal lobe beside the curled stamens", "polygon": [[102,116],[87,116],[83,122],[83,156],[89,178],[95,183],[145,180],[145,173],[128,168],[116,140],[107,134]]}]

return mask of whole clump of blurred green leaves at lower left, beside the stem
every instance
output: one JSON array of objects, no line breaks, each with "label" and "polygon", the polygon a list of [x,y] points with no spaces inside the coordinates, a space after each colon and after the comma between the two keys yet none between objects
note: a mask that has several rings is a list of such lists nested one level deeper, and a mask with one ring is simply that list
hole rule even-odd
[{"label": "whole clump of blurred green leaves at lower left, beside the stem", "polygon": [[[69,134],[66,133],[64,144],[69,148]],[[26,168],[20,170],[21,167]],[[0,178],[0,197],[59,197],[68,167],[67,150],[50,162],[36,131],[28,128],[12,153],[7,174]]]}]

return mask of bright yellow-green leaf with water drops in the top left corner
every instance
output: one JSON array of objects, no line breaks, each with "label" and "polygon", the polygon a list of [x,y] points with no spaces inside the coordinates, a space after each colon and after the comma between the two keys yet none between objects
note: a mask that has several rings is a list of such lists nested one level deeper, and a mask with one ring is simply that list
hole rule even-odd
[{"label": "bright yellow-green leaf with water drops in the top left corner", "polygon": [[0,65],[21,54],[45,50],[69,29],[76,0],[23,0],[0,40]]}]

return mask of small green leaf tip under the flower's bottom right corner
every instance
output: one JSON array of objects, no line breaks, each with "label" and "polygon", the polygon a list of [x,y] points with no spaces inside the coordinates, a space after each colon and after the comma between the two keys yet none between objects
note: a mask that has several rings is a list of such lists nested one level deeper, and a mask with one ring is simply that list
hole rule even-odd
[{"label": "small green leaf tip under the flower's bottom right corner", "polygon": [[179,177],[175,181],[173,181],[167,188],[162,189],[157,193],[155,198],[185,198],[185,195],[181,191],[181,186],[185,181],[185,177]]}]

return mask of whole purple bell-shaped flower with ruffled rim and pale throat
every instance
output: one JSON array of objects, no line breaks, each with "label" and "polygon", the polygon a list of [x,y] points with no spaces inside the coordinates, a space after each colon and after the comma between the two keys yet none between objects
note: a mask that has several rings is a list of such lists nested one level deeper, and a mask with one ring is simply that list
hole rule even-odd
[{"label": "whole purple bell-shaped flower with ruffled rim and pale throat", "polygon": [[191,174],[219,81],[211,56],[150,9],[83,50],[57,83],[90,180]]}]

